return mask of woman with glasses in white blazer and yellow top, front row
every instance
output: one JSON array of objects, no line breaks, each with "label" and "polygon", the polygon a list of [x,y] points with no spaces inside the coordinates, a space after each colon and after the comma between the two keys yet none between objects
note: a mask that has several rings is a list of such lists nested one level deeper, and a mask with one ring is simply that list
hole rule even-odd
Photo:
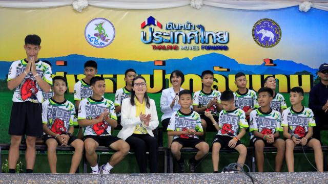
[{"label": "woman with glasses in white blazer and yellow top, front row", "polygon": [[140,173],[147,173],[146,152],[149,152],[150,172],[157,173],[158,143],[152,130],[158,126],[155,101],[147,95],[146,80],[137,76],[132,81],[131,97],[121,105],[121,125],[118,137],[135,150]]}]

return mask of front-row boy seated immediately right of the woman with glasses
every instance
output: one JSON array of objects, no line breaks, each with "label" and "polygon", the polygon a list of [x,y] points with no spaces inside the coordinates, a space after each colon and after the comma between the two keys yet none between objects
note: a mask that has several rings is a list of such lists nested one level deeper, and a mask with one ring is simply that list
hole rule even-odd
[{"label": "front-row boy seated immediately right of the woman with glasses", "polygon": [[180,149],[193,147],[198,149],[197,154],[190,159],[190,172],[195,172],[199,160],[209,152],[209,145],[200,140],[198,136],[203,134],[199,114],[190,109],[192,93],[183,89],[179,93],[180,110],[173,112],[169,126],[168,135],[173,136],[171,152],[179,165],[179,172],[185,172],[185,161],[181,156]]}]

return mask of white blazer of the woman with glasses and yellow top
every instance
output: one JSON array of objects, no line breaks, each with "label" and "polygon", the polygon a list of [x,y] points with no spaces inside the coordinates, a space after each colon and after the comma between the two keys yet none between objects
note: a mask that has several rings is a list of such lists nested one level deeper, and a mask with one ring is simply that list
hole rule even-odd
[{"label": "white blazer of the woman with glasses and yellow top", "polygon": [[[146,127],[143,125],[148,134],[154,136],[153,131],[158,126],[158,117],[156,111],[155,101],[153,99],[149,99],[150,108],[147,108],[146,105],[146,114],[151,114],[151,120],[149,122],[149,126]],[[134,128],[136,125],[142,124],[139,116],[135,117],[135,105],[131,105],[130,98],[126,98],[122,101],[121,105],[121,125],[122,129],[118,132],[117,137],[122,140],[126,140],[129,136],[131,136],[134,132]]]}]

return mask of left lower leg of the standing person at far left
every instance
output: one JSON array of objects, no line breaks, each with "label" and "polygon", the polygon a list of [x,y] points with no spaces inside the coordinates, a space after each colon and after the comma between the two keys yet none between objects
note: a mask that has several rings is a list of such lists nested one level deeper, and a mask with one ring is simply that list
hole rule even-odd
[{"label": "left lower leg of the standing person at far left", "polygon": [[19,144],[22,141],[22,135],[11,135],[10,148],[8,153],[8,168],[16,169],[17,160],[19,158]]}]

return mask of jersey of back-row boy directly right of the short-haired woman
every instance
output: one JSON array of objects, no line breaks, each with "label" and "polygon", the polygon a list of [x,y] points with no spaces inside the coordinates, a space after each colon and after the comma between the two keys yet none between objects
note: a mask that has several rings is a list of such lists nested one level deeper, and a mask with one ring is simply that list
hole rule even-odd
[{"label": "jersey of back-row boy directly right of the short-haired woman", "polygon": [[[196,91],[193,97],[193,105],[197,105],[198,108],[206,106],[211,100],[216,99],[218,103],[220,100],[221,93],[217,90],[211,90],[211,93],[207,94],[203,90]],[[211,111],[211,114],[217,116],[217,106],[213,104],[211,107],[208,107]]]}]

